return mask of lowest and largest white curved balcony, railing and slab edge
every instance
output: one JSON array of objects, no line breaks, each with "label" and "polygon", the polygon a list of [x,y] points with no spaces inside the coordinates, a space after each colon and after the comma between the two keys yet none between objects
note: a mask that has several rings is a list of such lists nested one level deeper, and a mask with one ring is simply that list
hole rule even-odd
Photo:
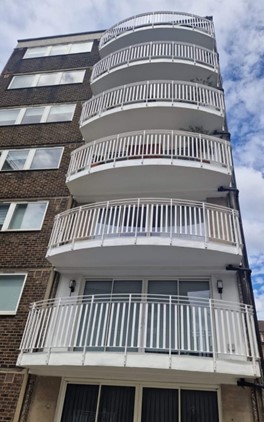
[{"label": "lowest and largest white curved balcony, railing and slab edge", "polygon": [[79,365],[195,374],[203,367],[203,372],[214,374],[254,376],[259,358],[251,306],[147,294],[34,303],[20,350],[18,364],[33,372],[42,365]]}]

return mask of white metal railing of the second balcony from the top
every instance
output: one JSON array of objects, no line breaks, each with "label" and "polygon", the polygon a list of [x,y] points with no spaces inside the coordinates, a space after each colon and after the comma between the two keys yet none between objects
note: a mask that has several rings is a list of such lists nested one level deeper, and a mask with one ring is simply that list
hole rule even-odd
[{"label": "white metal railing of the second balcony from the top", "polygon": [[195,44],[175,41],[155,41],[135,44],[122,48],[109,54],[93,66],[91,83],[112,69],[130,63],[147,60],[148,62],[158,59],[181,59],[200,63],[218,70],[218,58],[215,51],[200,47]]}]

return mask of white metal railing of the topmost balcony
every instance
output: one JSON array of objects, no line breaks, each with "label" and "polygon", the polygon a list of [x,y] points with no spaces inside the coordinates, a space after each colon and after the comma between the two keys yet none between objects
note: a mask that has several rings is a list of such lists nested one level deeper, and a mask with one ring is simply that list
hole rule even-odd
[{"label": "white metal railing of the topmost balcony", "polygon": [[109,42],[125,32],[134,32],[138,28],[147,26],[155,28],[160,25],[166,25],[172,28],[177,26],[191,27],[192,29],[202,31],[205,34],[214,37],[214,25],[209,19],[191,13],[157,11],[141,13],[113,25],[102,35],[99,49],[102,49]]}]

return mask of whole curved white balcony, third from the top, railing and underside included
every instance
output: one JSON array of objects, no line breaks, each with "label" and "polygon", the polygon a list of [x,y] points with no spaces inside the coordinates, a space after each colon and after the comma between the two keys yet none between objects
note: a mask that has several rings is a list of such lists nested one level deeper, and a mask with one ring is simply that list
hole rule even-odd
[{"label": "whole curved white balcony, third from the top, railing and underside included", "polygon": [[83,104],[80,130],[87,142],[144,129],[221,131],[221,90],[192,82],[144,81],[96,95]]}]

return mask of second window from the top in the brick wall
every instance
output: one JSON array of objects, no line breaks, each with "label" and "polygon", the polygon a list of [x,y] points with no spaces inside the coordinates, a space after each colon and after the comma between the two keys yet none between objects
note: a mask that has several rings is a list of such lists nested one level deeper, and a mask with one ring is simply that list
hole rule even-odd
[{"label": "second window from the top in the brick wall", "polygon": [[83,82],[84,75],[85,70],[17,75],[12,78],[8,89],[77,84]]}]

